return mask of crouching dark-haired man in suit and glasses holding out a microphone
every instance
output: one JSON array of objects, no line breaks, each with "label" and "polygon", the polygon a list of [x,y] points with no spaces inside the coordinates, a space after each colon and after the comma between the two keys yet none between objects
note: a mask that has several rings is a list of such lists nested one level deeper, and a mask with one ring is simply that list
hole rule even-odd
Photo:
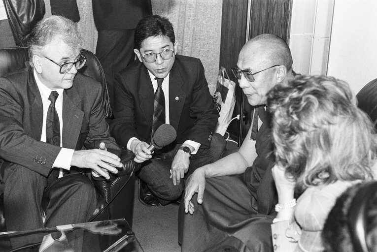
[{"label": "crouching dark-haired man in suit and glasses holding out a microphone", "polygon": [[[199,59],[176,55],[169,20],[158,15],[140,20],[135,45],[139,62],[116,75],[111,134],[142,163],[140,201],[165,205],[180,197],[186,173],[220,157],[225,140],[213,133],[219,114],[204,67]],[[152,154],[151,136],[164,123],[175,128],[176,140]]]}]

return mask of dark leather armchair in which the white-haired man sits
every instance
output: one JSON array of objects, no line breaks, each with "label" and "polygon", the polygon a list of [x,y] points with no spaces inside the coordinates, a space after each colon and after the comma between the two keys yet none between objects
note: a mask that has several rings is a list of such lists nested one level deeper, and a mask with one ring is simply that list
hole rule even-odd
[{"label": "dark leather armchair in which the white-haired man sits", "polygon": [[[106,120],[110,120],[112,117],[111,108],[109,105],[106,80],[104,77],[103,69],[98,61],[97,57],[90,51],[83,49],[82,54],[86,57],[87,61],[81,69],[78,71],[90,76],[103,85],[103,99],[104,99],[104,112]],[[19,48],[2,48],[0,49],[0,76],[3,76],[9,72],[17,71],[26,67],[28,62],[28,49],[25,47]],[[0,157],[6,160],[6,157]],[[135,162],[133,161],[134,154],[128,150],[122,150],[121,162],[125,167],[134,168]],[[129,181],[128,181],[129,180]],[[125,185],[125,183],[128,183]],[[98,215],[93,221],[103,221],[110,219],[126,219],[132,227],[133,212],[134,212],[134,186],[135,176],[130,175],[112,176],[111,180],[95,182],[94,184],[98,191],[98,205],[95,213],[97,214],[103,206],[109,202],[113,197],[112,203],[106,207],[106,209]],[[124,188],[122,188],[125,185]],[[1,185],[0,185],[1,186]],[[120,191],[119,191],[120,190]],[[119,194],[116,193],[119,191]],[[2,194],[2,191],[0,191]],[[0,232],[6,231],[5,221],[3,216],[3,200],[0,195]],[[110,242],[115,242],[117,237],[111,238],[111,241],[101,241],[101,244],[106,247]],[[106,247],[107,248],[107,247]]]}]

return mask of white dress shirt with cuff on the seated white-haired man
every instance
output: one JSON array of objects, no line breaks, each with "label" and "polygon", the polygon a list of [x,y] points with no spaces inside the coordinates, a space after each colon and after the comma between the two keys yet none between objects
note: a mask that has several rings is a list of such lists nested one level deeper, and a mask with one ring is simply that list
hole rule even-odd
[{"label": "white dress shirt with cuff on the seated white-haired man", "polygon": [[[58,92],[59,96],[55,101],[55,109],[58,112],[59,123],[60,123],[60,147],[63,147],[63,93],[64,89],[57,89],[51,90],[47,88],[42,82],[38,79],[37,74],[35,73],[34,69],[34,78],[36,85],[38,86],[40,96],[42,98],[43,104],[43,123],[42,123],[42,135],[40,136],[40,141],[46,142],[46,119],[47,119],[47,111],[48,107],[50,106],[51,101],[48,99],[52,91]],[[70,162],[73,157],[74,150],[62,148],[56,157],[52,167],[63,168],[66,170],[70,169]],[[63,171],[60,169],[59,178],[63,177]]]}]

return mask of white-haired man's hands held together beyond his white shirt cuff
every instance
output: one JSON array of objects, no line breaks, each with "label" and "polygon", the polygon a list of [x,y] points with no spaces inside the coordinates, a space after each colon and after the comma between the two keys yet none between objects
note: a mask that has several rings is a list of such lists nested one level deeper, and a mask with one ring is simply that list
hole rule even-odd
[{"label": "white-haired man's hands held together beyond his white shirt cuff", "polygon": [[100,144],[100,149],[74,151],[71,165],[79,168],[89,168],[106,179],[110,179],[108,172],[118,173],[117,168],[123,164],[120,158],[107,151],[105,144]]}]

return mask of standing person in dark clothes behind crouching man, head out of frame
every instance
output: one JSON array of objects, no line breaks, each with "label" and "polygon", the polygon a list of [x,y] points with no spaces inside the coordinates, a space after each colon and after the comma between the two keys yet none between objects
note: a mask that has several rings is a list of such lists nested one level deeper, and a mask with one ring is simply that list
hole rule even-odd
[{"label": "standing person in dark clothes behind crouching man, head out of frame", "polygon": [[92,0],[98,31],[96,56],[106,77],[110,106],[114,106],[114,75],[135,60],[137,22],[152,15],[150,0]]}]

